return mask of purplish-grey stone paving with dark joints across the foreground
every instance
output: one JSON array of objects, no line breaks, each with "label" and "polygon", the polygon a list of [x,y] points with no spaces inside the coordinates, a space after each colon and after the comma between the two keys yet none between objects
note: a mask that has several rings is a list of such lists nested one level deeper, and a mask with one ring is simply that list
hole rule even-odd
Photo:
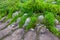
[{"label": "purplish-grey stone paving with dark joints across the foreground", "polygon": [[[24,32],[23,28],[18,28],[18,23],[13,25],[8,25],[8,23],[9,20],[4,23],[0,22],[0,40],[60,40],[44,27],[39,33],[35,30]],[[60,29],[60,25],[57,25],[57,28]]]}]

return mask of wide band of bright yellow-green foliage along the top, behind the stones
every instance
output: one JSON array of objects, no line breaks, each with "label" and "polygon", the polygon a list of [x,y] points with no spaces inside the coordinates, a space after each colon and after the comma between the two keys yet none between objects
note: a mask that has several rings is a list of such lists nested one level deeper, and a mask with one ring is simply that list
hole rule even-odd
[{"label": "wide band of bright yellow-green foliage along the top, behind the stones", "polygon": [[50,4],[40,0],[30,0],[26,3],[21,4],[21,10],[23,12],[53,12],[54,14],[60,14],[60,6],[57,4]]}]

